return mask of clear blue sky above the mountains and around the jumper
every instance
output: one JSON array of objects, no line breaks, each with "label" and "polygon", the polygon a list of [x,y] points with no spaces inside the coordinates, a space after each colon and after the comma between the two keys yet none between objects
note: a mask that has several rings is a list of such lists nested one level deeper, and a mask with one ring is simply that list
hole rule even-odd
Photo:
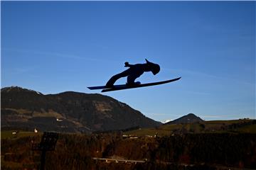
[{"label": "clear blue sky above the mountains and around the jumper", "polygon": [[255,1],[1,1],[1,87],[100,93],[145,58],[161,71],[138,81],[182,79],[104,95],[159,121],[256,118]]}]

